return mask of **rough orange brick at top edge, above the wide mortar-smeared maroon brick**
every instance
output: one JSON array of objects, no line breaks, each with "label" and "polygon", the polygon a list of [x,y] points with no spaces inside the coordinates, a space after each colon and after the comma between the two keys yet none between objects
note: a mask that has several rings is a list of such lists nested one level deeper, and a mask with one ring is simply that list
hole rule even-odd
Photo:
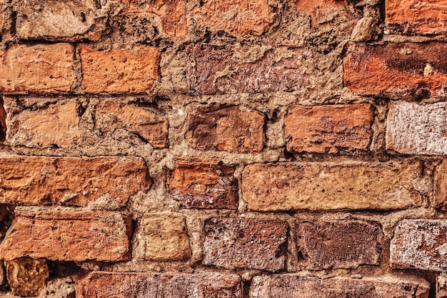
[{"label": "rough orange brick at top edge, above the wide mortar-smeared maroon brick", "polygon": [[215,30],[244,36],[263,34],[274,15],[268,0],[208,0],[194,8],[192,19]]}]

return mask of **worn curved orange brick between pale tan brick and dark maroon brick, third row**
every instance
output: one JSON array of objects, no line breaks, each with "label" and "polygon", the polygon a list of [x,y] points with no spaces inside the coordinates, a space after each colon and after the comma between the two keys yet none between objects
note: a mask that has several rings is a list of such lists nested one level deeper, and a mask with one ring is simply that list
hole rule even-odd
[{"label": "worn curved orange brick between pale tan brick and dark maroon brick, third row", "polygon": [[114,117],[115,121],[101,126],[101,129],[126,129],[138,134],[154,148],[166,148],[169,143],[169,122],[159,111],[135,105],[120,105],[103,102],[96,106],[96,119],[101,126],[102,117]]}]

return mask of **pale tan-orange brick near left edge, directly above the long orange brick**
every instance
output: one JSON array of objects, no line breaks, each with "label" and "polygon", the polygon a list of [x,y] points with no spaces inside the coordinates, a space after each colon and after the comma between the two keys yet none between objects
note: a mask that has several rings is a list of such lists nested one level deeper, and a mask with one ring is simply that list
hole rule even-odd
[{"label": "pale tan-orange brick near left edge, directly above the long orange brick", "polygon": [[69,148],[81,142],[79,103],[59,101],[46,109],[29,109],[11,119],[12,146]]}]

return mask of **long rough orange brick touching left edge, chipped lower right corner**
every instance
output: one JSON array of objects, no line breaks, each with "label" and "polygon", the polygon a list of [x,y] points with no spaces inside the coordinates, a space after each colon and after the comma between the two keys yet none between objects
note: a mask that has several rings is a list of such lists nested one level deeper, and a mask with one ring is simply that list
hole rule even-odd
[{"label": "long rough orange brick touching left edge, chipped lower right corner", "polygon": [[0,157],[0,203],[123,207],[151,186],[139,157]]}]

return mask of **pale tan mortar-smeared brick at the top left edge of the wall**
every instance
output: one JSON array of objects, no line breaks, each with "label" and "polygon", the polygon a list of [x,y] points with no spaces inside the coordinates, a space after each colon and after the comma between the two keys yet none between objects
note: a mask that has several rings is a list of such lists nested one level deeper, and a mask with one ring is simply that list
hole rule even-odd
[{"label": "pale tan mortar-smeared brick at the top left edge of the wall", "polygon": [[95,0],[22,1],[16,18],[20,39],[76,41],[99,39],[106,29],[106,15]]}]

